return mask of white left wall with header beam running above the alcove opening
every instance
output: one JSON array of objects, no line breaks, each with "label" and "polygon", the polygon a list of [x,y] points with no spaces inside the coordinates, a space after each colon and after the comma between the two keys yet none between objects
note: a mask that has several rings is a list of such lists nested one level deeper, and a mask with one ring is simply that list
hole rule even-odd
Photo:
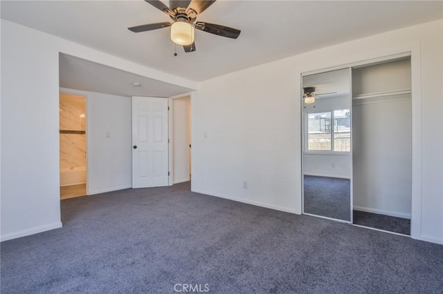
[{"label": "white left wall with header beam running above the alcove opening", "polygon": [[60,52],[197,88],[181,77],[1,19],[1,240],[62,226]]}]

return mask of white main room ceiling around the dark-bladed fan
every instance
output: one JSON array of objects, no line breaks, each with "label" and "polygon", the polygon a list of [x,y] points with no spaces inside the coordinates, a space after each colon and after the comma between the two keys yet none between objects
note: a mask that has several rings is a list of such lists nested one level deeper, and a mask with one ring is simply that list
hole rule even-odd
[{"label": "white main room ceiling around the dark-bladed fan", "polygon": [[[239,38],[196,30],[197,51],[185,53],[177,46],[178,56],[174,57],[169,28],[141,33],[127,30],[145,23],[170,21],[143,0],[1,1],[3,19],[192,81],[441,19],[442,10],[442,1],[218,0],[197,21],[241,29]],[[89,66],[98,68],[81,59],[75,65],[74,59],[66,58],[71,65],[68,72]],[[76,79],[70,83],[80,83],[79,77]]]}]

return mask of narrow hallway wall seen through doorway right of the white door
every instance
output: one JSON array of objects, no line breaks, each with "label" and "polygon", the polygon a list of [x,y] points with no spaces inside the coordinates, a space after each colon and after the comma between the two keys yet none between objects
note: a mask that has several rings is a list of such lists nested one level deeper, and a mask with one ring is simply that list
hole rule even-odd
[{"label": "narrow hallway wall seen through doorway right of the white door", "polygon": [[189,128],[190,97],[172,99],[172,148],[174,184],[190,180]]}]

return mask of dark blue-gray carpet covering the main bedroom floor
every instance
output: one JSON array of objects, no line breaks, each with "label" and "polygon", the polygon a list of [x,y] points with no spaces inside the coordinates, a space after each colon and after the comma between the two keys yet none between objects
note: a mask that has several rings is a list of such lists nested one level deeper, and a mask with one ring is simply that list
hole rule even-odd
[{"label": "dark blue-gray carpet covering the main bedroom floor", "polygon": [[1,293],[442,293],[441,245],[188,190],[63,200],[63,228],[1,244]]}]

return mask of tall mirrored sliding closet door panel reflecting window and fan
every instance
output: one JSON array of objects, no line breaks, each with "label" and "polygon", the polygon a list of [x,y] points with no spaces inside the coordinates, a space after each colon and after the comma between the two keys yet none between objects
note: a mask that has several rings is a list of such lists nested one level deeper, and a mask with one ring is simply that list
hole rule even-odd
[{"label": "tall mirrored sliding closet door panel reflecting window and fan", "polygon": [[303,213],[351,222],[350,69],[303,85]]}]

